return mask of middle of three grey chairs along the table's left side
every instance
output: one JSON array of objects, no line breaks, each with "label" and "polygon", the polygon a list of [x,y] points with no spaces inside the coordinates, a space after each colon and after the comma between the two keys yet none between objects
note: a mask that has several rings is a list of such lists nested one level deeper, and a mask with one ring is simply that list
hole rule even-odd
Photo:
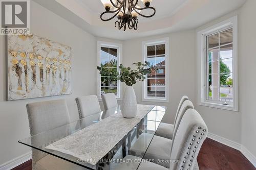
[{"label": "middle of three grey chairs along the table's left side", "polygon": [[79,118],[93,116],[100,113],[99,101],[96,95],[87,95],[76,98]]}]

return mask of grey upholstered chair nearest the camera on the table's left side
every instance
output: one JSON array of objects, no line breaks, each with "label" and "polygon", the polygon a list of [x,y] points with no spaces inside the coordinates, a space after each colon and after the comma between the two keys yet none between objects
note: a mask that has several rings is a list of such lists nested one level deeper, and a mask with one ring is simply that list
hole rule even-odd
[{"label": "grey upholstered chair nearest the camera on the table's left side", "polygon": [[[49,131],[70,123],[70,116],[65,100],[55,100],[27,104],[30,135]],[[33,141],[31,142],[40,142]],[[55,156],[32,149],[32,167],[41,169],[84,169]]]}]

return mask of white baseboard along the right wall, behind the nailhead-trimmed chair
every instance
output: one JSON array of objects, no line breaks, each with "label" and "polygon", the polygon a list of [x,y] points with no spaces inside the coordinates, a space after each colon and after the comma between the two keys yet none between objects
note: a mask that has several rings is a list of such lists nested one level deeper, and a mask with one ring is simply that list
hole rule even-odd
[{"label": "white baseboard along the right wall, behind the nailhead-trimmed chair", "polygon": [[207,135],[208,138],[218,141],[222,144],[227,145],[228,147],[231,147],[233,149],[236,149],[240,151],[250,162],[251,164],[256,167],[256,157],[252,155],[242,144],[234,142],[232,140],[226,139],[224,137],[218,136],[213,133],[208,133]]}]

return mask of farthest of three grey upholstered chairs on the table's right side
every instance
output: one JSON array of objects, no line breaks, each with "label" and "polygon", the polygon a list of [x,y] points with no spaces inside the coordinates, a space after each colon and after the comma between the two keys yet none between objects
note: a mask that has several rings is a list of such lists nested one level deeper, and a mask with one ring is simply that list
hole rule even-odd
[{"label": "farthest of three grey upholstered chairs on the table's right side", "polygon": [[174,125],[175,125],[177,116],[179,114],[180,108],[181,108],[183,102],[185,102],[186,100],[188,100],[188,97],[186,95],[182,96],[179,106],[178,106],[178,109],[177,109],[177,112],[176,112],[176,115],[175,115],[174,124],[161,123],[156,132],[157,136],[165,137],[167,139],[173,139]]}]

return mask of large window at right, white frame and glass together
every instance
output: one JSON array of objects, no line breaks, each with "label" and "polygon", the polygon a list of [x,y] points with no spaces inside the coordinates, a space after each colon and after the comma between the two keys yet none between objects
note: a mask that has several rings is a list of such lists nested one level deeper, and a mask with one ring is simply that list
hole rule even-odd
[{"label": "large window at right, white frame and glass together", "polygon": [[237,109],[237,17],[198,33],[199,104]]}]

